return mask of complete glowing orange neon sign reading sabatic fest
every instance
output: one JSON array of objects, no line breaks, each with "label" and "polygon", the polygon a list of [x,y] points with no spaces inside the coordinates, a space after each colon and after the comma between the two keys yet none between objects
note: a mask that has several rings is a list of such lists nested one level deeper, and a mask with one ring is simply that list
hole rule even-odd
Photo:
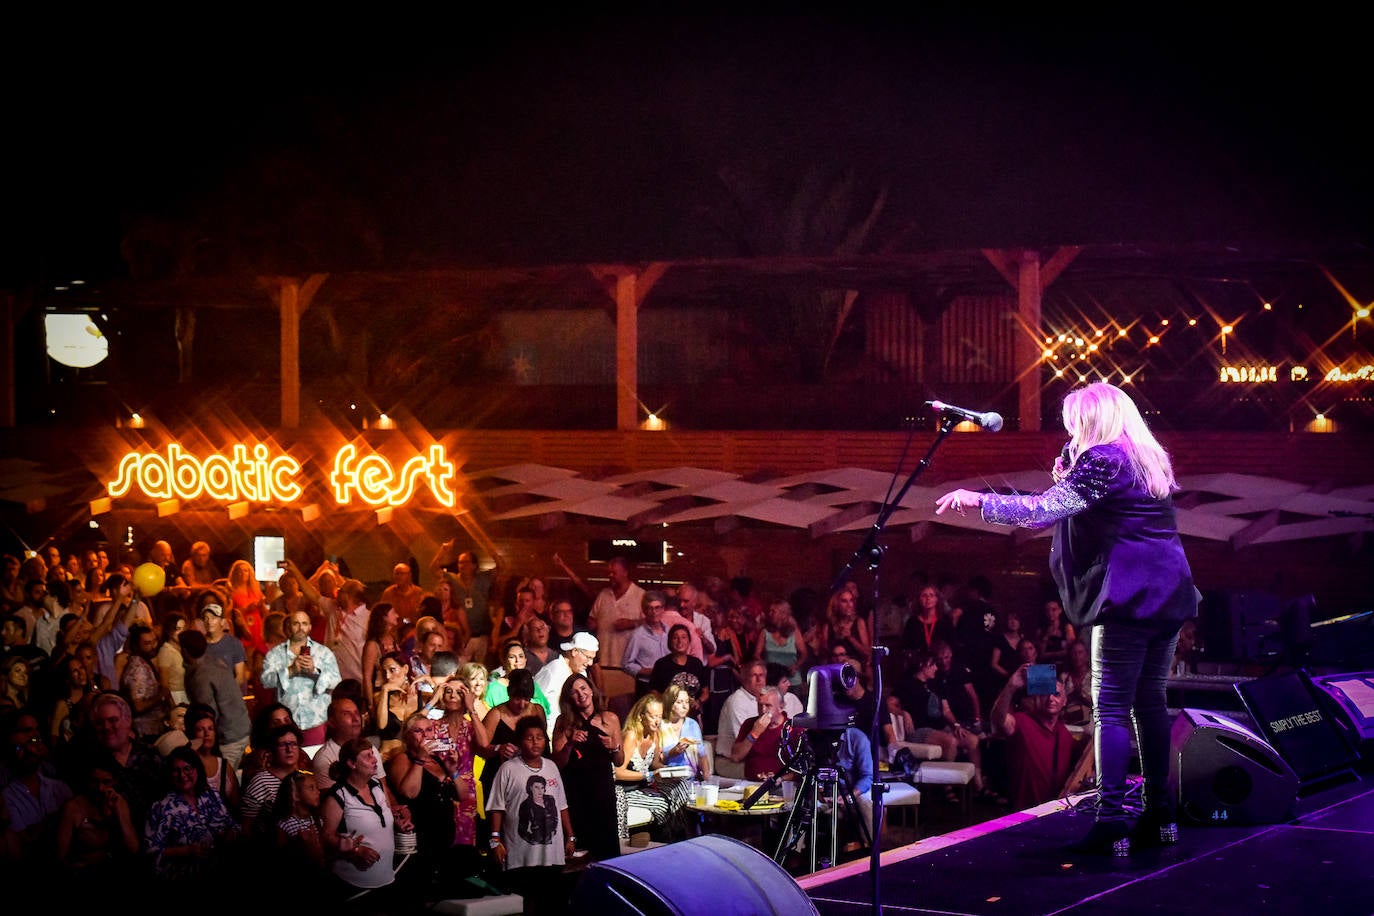
[{"label": "complete glowing orange neon sign reading sabatic fest", "polygon": [[[125,455],[107,489],[113,497],[137,488],[155,500],[190,501],[207,496],[225,503],[287,504],[305,492],[297,479],[300,474],[300,461],[280,452],[273,455],[262,444],[235,445],[229,455],[201,459],[173,442],[165,452]],[[431,445],[397,470],[381,455],[359,455],[350,442],[334,453],[330,485],[339,505],[354,499],[374,508],[404,505],[420,486],[429,486],[441,505],[453,508],[455,475],[456,468],[441,445]]]}]

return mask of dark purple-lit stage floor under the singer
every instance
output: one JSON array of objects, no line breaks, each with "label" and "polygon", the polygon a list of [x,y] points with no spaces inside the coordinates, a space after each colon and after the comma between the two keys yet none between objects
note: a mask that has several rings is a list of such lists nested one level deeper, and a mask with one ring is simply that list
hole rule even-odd
[{"label": "dark purple-lit stage floor under the singer", "polygon": [[[1178,846],[1129,858],[1065,847],[1091,816],[1065,802],[932,836],[882,856],[883,913],[1030,916],[1374,913],[1374,781],[1300,798],[1296,817],[1187,827]],[[800,879],[826,916],[874,912],[870,860]]]}]

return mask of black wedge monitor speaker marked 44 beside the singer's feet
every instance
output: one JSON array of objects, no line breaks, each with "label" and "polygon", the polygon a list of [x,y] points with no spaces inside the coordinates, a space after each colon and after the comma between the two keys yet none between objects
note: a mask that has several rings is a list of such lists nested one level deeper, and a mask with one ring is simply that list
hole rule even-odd
[{"label": "black wedge monitor speaker marked 44 beside the singer's feet", "polygon": [[1298,779],[1274,747],[1217,713],[1184,709],[1169,736],[1169,792],[1200,824],[1272,824],[1287,820]]}]

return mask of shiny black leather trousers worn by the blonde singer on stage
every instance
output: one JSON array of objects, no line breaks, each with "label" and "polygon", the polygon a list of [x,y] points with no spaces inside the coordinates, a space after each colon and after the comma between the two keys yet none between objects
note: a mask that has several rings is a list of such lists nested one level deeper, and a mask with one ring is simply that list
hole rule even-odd
[{"label": "shiny black leather trousers worn by the blonde singer on stage", "polygon": [[1092,725],[1099,821],[1125,820],[1131,735],[1140,754],[1145,808],[1172,816],[1168,797],[1169,711],[1165,680],[1173,662],[1182,622],[1107,622],[1091,632]]}]

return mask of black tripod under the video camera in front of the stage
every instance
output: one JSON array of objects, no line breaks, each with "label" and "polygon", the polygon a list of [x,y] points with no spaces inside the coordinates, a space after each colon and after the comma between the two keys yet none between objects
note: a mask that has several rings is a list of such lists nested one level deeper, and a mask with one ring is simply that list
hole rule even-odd
[{"label": "black tripod under the video camera in front of the stage", "polygon": [[[787,770],[801,776],[797,784],[797,794],[793,797],[791,810],[783,821],[782,838],[774,851],[774,861],[779,865],[787,853],[796,850],[802,835],[807,835],[807,849],[811,856],[811,871],[815,872],[819,850],[820,816],[823,813],[823,799],[830,799],[830,856],[820,861],[820,868],[830,868],[835,864],[840,853],[840,809],[844,806],[845,816],[859,831],[860,842],[871,849],[872,838],[864,824],[863,812],[855,798],[853,786],[844,769],[837,764],[837,747],[841,735],[838,732],[807,732],[798,742],[797,753],[787,762]],[[820,744],[824,742],[823,744]],[[818,744],[826,751],[824,762],[819,758]],[[772,777],[778,779],[778,776]],[[760,788],[764,791],[767,784]],[[753,799],[750,799],[752,802]]]}]

